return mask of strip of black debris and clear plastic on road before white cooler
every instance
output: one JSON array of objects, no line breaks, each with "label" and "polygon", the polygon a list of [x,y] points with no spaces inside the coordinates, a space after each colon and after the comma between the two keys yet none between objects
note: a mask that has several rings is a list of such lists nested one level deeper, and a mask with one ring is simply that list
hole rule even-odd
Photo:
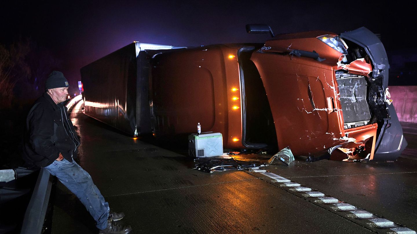
[{"label": "strip of black debris and clear plastic on road before white cooler", "polygon": [[260,169],[259,167],[269,166],[275,159],[279,159],[281,163],[288,166],[294,161],[294,155],[292,154],[291,149],[286,147],[272,156],[268,162],[261,162],[258,159],[235,159],[226,155],[220,157],[196,158],[194,159],[194,169],[207,173],[222,172],[232,169],[248,169],[251,172],[264,172],[266,170]]}]

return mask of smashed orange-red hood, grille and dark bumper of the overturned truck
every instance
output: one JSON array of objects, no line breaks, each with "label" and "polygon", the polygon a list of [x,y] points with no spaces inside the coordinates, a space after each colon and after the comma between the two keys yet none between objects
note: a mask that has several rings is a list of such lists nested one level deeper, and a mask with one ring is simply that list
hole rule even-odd
[{"label": "smashed orange-red hood, grille and dark bumper of the overturned truck", "polygon": [[295,155],[395,160],[407,146],[389,100],[388,60],[362,27],[278,35],[253,53],[279,148]]}]

